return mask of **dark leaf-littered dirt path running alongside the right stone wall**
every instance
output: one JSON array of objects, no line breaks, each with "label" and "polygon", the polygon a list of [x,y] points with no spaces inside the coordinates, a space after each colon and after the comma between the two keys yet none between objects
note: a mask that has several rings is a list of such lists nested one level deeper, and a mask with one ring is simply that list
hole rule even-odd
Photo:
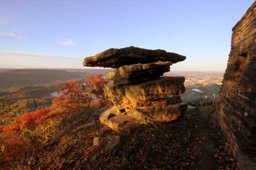
[{"label": "dark leaf-littered dirt path running alongside the right stone wall", "polygon": [[213,116],[213,110],[198,111],[198,121],[191,132],[189,142],[195,159],[195,166],[189,169],[234,168],[229,167],[232,154],[227,148],[228,143],[223,141],[220,127]]}]

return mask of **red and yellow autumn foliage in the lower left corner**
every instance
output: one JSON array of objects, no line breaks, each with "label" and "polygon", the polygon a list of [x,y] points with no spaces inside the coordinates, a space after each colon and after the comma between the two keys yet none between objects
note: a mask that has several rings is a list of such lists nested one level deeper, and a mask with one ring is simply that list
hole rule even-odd
[{"label": "red and yellow autumn foliage in the lower left corner", "polygon": [[19,160],[30,150],[38,147],[42,143],[42,138],[44,141],[49,139],[49,133],[46,133],[49,132],[48,125],[52,122],[44,119],[49,112],[49,109],[42,108],[24,113],[15,117],[13,123],[3,128],[4,138],[1,141],[0,155],[4,156],[4,161]]}]

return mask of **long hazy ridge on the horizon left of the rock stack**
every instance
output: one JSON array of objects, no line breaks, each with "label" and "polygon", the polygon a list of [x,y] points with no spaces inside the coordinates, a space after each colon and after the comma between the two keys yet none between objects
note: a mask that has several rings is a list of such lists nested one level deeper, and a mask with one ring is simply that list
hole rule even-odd
[{"label": "long hazy ridge on the horizon left of the rock stack", "polygon": [[0,89],[44,85],[58,81],[105,75],[110,69],[0,69]]}]

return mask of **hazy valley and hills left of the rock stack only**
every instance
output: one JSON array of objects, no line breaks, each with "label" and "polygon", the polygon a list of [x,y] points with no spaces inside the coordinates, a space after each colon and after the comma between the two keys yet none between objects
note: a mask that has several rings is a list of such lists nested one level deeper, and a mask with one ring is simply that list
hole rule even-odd
[{"label": "hazy valley and hills left of the rock stack only", "polygon": [[111,69],[0,69],[0,100],[8,100],[23,112],[49,106],[63,83],[89,75],[105,75]]}]

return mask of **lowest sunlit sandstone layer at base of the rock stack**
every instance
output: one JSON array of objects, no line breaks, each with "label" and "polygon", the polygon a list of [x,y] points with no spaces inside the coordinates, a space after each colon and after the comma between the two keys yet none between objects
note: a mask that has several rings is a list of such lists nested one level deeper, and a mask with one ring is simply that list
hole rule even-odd
[{"label": "lowest sunlit sandstone layer at base of the rock stack", "polygon": [[124,114],[116,114],[119,109],[110,107],[100,115],[100,122],[116,132],[136,124],[147,124],[148,118],[158,122],[171,122],[178,119],[187,110],[186,103],[168,104],[167,100],[159,100],[152,105],[123,109]]}]

